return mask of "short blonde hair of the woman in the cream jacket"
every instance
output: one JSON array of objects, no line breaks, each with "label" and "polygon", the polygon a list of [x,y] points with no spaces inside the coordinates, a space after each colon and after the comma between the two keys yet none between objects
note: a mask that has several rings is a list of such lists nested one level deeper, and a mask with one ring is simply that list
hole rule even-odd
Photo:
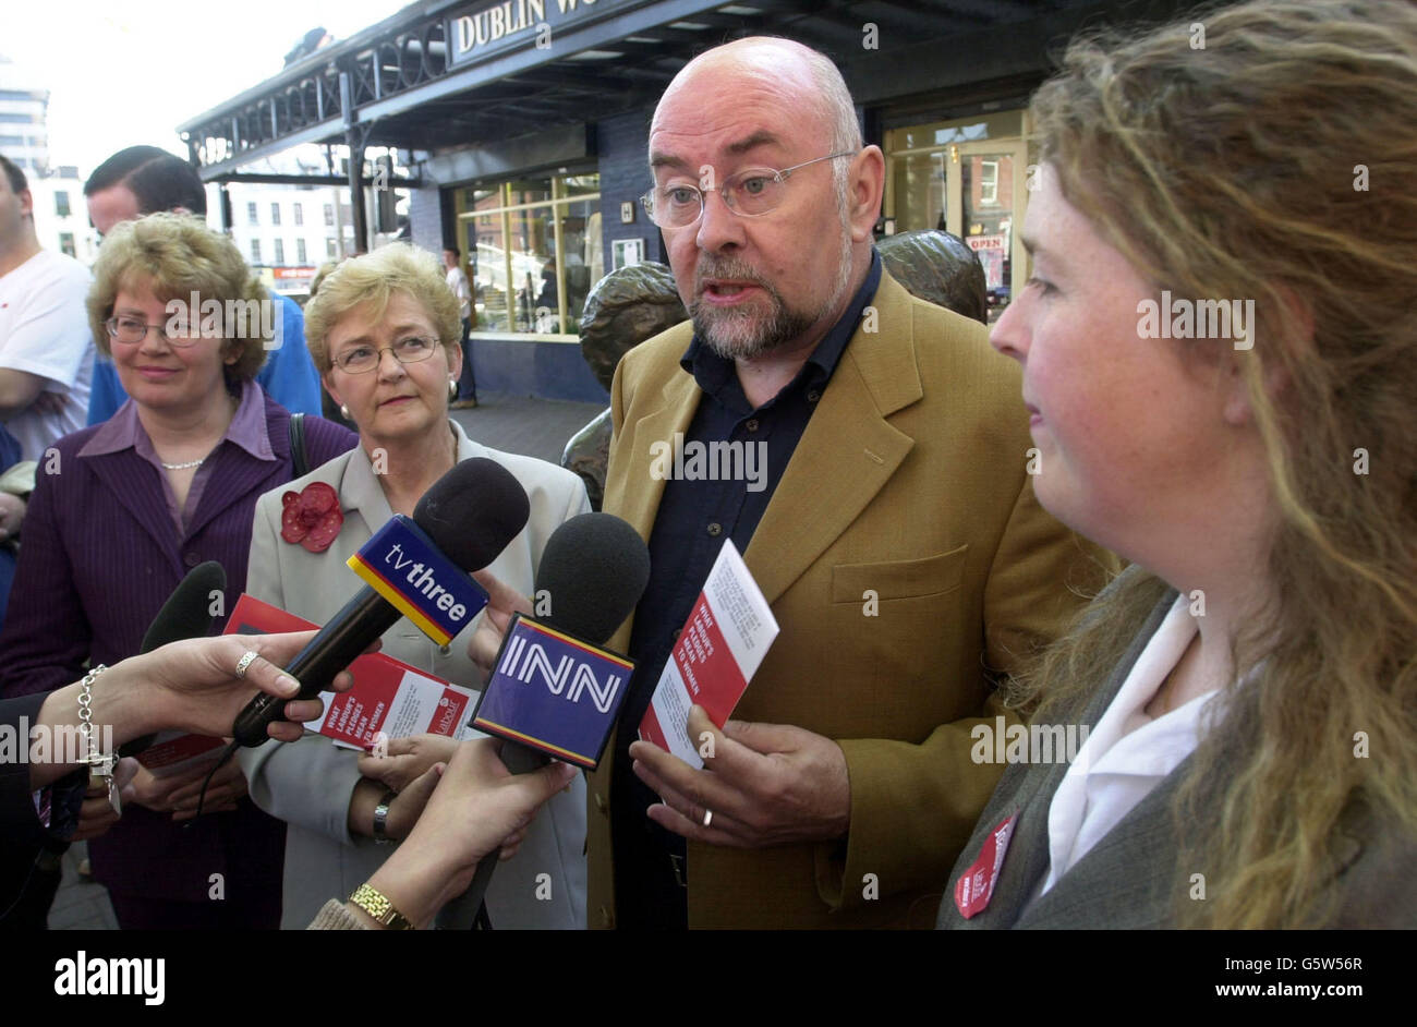
[{"label": "short blonde hair of the woman in the cream jacket", "polygon": [[452,351],[462,346],[458,297],[448,288],[438,258],[407,242],[394,242],[334,268],[306,303],[305,344],[322,374],[333,367],[330,329],[356,307],[367,309],[378,320],[395,292],[411,296],[424,309],[444,348]]}]

